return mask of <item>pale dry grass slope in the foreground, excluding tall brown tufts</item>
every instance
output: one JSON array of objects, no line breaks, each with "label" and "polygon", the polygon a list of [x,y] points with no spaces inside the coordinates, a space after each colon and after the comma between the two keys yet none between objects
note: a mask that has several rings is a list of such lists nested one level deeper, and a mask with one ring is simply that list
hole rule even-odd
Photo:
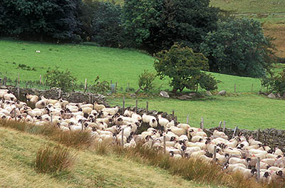
[{"label": "pale dry grass slope in the foreground, excluding tall brown tufts", "polygon": [[0,137],[1,187],[206,187],[157,167],[116,155],[96,155],[89,150],[77,151],[72,174],[38,174],[33,169],[38,148],[56,143],[3,127]]}]

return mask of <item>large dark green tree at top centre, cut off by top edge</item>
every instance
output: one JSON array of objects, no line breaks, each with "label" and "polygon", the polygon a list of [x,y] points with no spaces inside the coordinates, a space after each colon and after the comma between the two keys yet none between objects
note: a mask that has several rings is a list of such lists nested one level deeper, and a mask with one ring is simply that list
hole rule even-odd
[{"label": "large dark green tree at top centre, cut off by top edge", "polygon": [[218,9],[209,0],[126,0],[123,11],[126,33],[150,53],[175,42],[197,51],[202,37],[217,28]]}]

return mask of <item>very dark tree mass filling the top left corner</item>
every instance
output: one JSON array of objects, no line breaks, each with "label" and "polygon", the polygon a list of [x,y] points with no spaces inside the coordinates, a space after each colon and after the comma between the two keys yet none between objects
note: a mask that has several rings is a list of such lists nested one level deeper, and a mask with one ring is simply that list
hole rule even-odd
[{"label": "very dark tree mass filling the top left corner", "polygon": [[25,39],[78,40],[81,0],[2,0],[7,33]]}]

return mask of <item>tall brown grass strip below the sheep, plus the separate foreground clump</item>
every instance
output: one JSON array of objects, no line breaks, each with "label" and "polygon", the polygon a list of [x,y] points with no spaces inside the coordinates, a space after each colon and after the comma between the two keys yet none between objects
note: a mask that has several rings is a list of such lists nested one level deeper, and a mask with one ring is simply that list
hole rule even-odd
[{"label": "tall brown grass strip below the sheep, plus the separate foreground clump", "polygon": [[[25,123],[4,120],[0,121],[0,126],[11,127],[21,131],[28,130],[26,132],[30,133],[32,133],[32,131],[30,131],[31,129],[36,129],[33,127],[36,125],[32,126],[26,125]],[[221,167],[216,164],[208,164],[202,162],[201,160],[185,158],[175,160],[169,155],[165,155],[160,150],[153,150],[148,147],[142,147],[142,145],[137,145],[134,148],[124,149],[119,145],[106,145],[104,142],[94,142],[88,132],[63,132],[61,130],[58,130],[56,127],[50,127],[51,130],[53,130],[51,131],[53,134],[51,136],[49,135],[51,133],[46,134],[40,131],[41,127],[45,129],[45,126],[39,126],[37,127],[38,131],[36,132],[40,132],[39,134],[46,135],[51,138],[51,140],[60,142],[63,145],[72,147],[80,147],[80,145],[83,145],[83,147],[80,148],[88,147],[89,150],[93,150],[100,155],[114,154],[118,157],[125,157],[130,160],[135,160],[141,164],[160,167],[170,172],[170,174],[177,174],[185,179],[193,180],[195,182],[211,183],[232,188],[273,188],[282,187],[285,184],[285,182],[272,182],[271,184],[257,183],[255,179],[244,179],[242,174],[227,174],[223,172]],[[38,167],[36,167],[36,169],[40,169],[42,172],[50,172],[49,170],[53,170],[54,172],[58,171],[59,169],[63,169],[65,166],[71,166],[69,164],[72,164],[74,156],[71,155],[71,158],[68,158],[67,154],[69,153],[70,150],[64,149],[63,147],[55,147],[53,149],[51,149],[51,147],[43,147],[38,151],[36,158],[36,161],[38,161]],[[63,162],[63,164],[53,164],[53,160],[58,161],[58,159],[61,157],[66,157],[68,159],[66,163]],[[45,162],[50,164],[45,164]],[[46,165],[49,166],[46,167]],[[53,167],[53,165],[56,165],[56,167]]]}]

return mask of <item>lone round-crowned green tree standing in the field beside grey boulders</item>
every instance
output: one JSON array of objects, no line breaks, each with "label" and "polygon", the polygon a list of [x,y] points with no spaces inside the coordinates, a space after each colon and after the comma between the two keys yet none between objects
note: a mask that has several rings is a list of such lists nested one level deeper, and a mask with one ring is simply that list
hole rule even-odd
[{"label": "lone round-crowned green tree standing in the field beside grey boulders", "polygon": [[168,76],[173,92],[188,88],[197,90],[198,85],[206,90],[217,89],[217,81],[202,70],[209,68],[208,60],[202,53],[195,53],[189,47],[173,45],[169,51],[155,54],[155,70],[160,79]]}]

